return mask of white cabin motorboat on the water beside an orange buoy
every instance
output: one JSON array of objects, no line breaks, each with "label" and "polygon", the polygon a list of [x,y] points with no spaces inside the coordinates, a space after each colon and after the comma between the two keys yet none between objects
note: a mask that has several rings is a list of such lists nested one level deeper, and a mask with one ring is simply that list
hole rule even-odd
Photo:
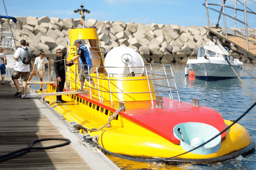
[{"label": "white cabin motorboat on the water beside an orange buoy", "polygon": [[197,77],[236,77],[235,72],[228,62],[233,66],[238,75],[240,75],[241,66],[244,63],[240,62],[239,59],[233,59],[228,51],[228,49],[221,45],[215,45],[213,42],[211,45],[200,46],[197,52],[197,58],[188,59],[187,68],[185,69],[186,76],[188,75],[188,70],[192,69]]}]

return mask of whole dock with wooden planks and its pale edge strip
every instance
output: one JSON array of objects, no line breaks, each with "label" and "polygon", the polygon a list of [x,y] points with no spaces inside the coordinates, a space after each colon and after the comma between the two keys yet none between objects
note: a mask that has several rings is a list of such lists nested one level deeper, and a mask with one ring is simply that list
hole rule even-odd
[{"label": "whole dock with wooden planks and its pale edge strip", "polygon": [[[67,138],[70,145],[32,150],[21,157],[0,162],[0,169],[119,169],[97,148],[81,145],[68,127],[39,99],[15,97],[8,80],[0,85],[0,155],[26,148],[42,138]],[[61,144],[43,141],[33,147]]]}]

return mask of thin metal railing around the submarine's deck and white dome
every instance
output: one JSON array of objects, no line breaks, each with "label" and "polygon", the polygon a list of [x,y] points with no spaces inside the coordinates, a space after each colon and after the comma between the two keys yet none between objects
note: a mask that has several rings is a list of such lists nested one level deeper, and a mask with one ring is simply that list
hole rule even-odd
[{"label": "thin metal railing around the submarine's deck and white dome", "polygon": [[[113,107],[113,98],[112,98],[112,94],[117,94],[117,93],[119,93],[119,94],[139,94],[139,93],[150,93],[150,98],[151,98],[151,104],[152,104],[152,106],[154,105],[153,104],[153,96],[152,96],[152,94],[159,94],[159,93],[165,93],[165,92],[169,92],[170,94],[169,94],[169,97],[170,97],[170,99],[173,99],[173,96],[172,96],[172,92],[175,92],[176,91],[176,93],[177,93],[177,96],[178,96],[178,100],[179,101],[181,101],[180,100],[180,96],[178,95],[178,91],[177,91],[177,87],[176,87],[176,83],[175,83],[175,80],[174,80],[174,74],[173,74],[173,72],[172,72],[172,69],[171,69],[171,65],[169,65],[169,64],[153,64],[153,63],[145,63],[145,66],[139,66],[139,67],[144,67],[144,72],[143,73],[136,73],[136,74],[144,74],[144,77],[145,78],[127,78],[127,79],[125,79],[125,78],[123,78],[123,79],[118,79],[118,78],[114,78],[114,77],[111,77],[110,75],[112,75],[112,73],[110,73],[110,71],[109,71],[109,69],[111,69],[111,68],[126,68],[126,67],[107,67],[107,66],[96,66],[96,65],[86,65],[88,68],[89,67],[96,67],[96,72],[95,73],[91,73],[91,74],[89,74],[89,85],[86,85],[86,84],[84,84],[84,85],[82,85],[83,87],[85,87],[85,88],[89,88],[89,92],[90,92],[90,96],[91,96],[91,99],[92,99],[92,89],[93,90],[95,90],[95,93],[94,94],[96,94],[97,92],[96,91],[98,91],[98,95],[99,95],[99,101],[100,101],[100,103],[104,103],[104,100],[103,100],[103,97],[101,96],[101,94],[100,94],[100,92],[105,92],[105,93],[110,93],[110,101],[111,101],[111,106]],[[77,65],[76,65],[76,67],[77,67]],[[98,70],[99,70],[99,68],[100,67],[103,67],[104,68],[104,70],[106,71],[106,72],[99,72]],[[167,74],[167,70],[165,69],[165,67],[170,67],[170,74],[171,75],[168,75]],[[128,67],[129,68],[129,67]],[[131,68],[131,67],[130,67]],[[132,68],[136,68],[136,67],[132,67]],[[138,68],[138,67],[137,67]],[[148,69],[149,68],[149,69]],[[158,73],[157,74],[155,74],[154,73],[154,71],[153,71],[153,68],[157,68],[158,69]],[[160,69],[163,69],[163,71],[162,71],[162,73],[161,73],[161,70],[159,70],[159,68]],[[148,70],[150,71],[150,72],[148,72]],[[78,76],[78,74],[76,73],[77,72],[77,69],[75,69],[75,72],[73,72],[73,71],[67,71],[67,73],[75,73],[75,86],[76,86],[76,81],[77,81],[77,76]],[[66,73],[66,74],[67,74]],[[96,76],[94,76],[96,74]],[[127,75],[127,74],[118,74],[118,75],[120,75],[121,77],[123,77],[123,75]],[[152,77],[150,77],[150,75],[152,75]],[[105,78],[102,78],[102,76],[104,76]],[[98,85],[96,85],[95,87],[93,87],[92,85],[91,85],[91,78],[93,78],[93,79],[97,79],[96,81],[97,81],[97,84]],[[173,79],[174,80],[174,85],[173,86],[171,86],[170,84],[170,81],[169,81],[169,79]],[[67,80],[67,79],[66,79]],[[99,80],[107,80],[108,81],[108,89],[109,89],[109,91],[108,90],[103,90],[103,89],[100,89],[100,85],[99,85]],[[137,81],[143,81],[143,80],[147,80],[148,81],[148,88],[149,88],[149,91],[140,91],[140,92],[116,92],[116,91],[112,91],[111,90],[111,81],[130,81],[130,80],[137,80]],[[167,84],[168,85],[162,85],[162,84],[159,84],[159,83],[163,83],[164,81],[162,81],[162,80],[166,80],[165,82],[167,82]],[[72,81],[71,79],[70,79],[70,77],[69,77],[69,83],[71,83],[71,82],[74,82],[74,81]],[[94,80],[94,82],[96,82],[95,80]],[[155,90],[152,90],[152,87],[150,87],[150,81],[153,81],[154,83],[152,84],[153,86],[155,86],[156,87],[156,91]],[[162,89],[160,88],[160,89],[158,89],[157,87],[162,87]],[[76,88],[76,87],[75,87]],[[165,88],[167,88],[168,90],[164,90]],[[72,89],[72,87],[71,87],[71,89]]]}]

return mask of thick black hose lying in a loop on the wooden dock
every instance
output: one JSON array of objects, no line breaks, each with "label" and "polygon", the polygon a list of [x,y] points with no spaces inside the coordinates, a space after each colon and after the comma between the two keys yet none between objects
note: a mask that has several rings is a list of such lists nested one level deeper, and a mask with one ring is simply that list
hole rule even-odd
[{"label": "thick black hose lying in a loop on the wooden dock", "polygon": [[[47,146],[47,147],[31,147],[33,144],[35,144],[36,142],[40,142],[40,141],[46,141],[46,140],[65,140],[65,143],[59,144],[59,145],[53,145],[53,146]],[[43,139],[37,139],[34,140],[33,142],[30,143],[29,147],[27,148],[23,148],[5,155],[0,156],[0,162],[4,162],[10,159],[14,159],[17,157],[20,157],[21,155],[24,155],[26,153],[28,153],[30,150],[33,149],[52,149],[52,148],[56,148],[56,147],[61,147],[61,146],[66,146],[69,145],[71,143],[71,141],[69,139],[66,138],[43,138]]]}]

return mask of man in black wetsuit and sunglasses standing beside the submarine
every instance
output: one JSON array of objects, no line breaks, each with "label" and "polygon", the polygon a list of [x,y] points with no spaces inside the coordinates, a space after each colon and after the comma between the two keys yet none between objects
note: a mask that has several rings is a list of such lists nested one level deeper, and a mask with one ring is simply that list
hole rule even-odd
[{"label": "man in black wetsuit and sunglasses standing beside the submarine", "polygon": [[[65,81],[66,81],[66,65],[72,66],[74,63],[66,64],[65,58],[63,57],[63,53],[61,49],[56,50],[57,56],[54,60],[54,70],[56,73],[57,78],[57,89],[56,92],[62,92],[64,89]],[[61,96],[56,96],[57,101],[56,103],[66,103],[67,101],[64,101],[61,99]]]}]

